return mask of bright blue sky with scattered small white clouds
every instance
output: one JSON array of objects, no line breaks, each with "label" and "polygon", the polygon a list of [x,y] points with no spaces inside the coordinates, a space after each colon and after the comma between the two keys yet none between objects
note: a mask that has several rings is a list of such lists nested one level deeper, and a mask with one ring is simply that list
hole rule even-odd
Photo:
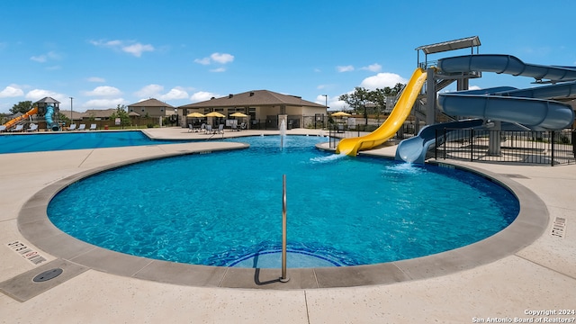
[{"label": "bright blue sky with scattered small white clouds", "polygon": [[[327,94],[335,110],[355,86],[406,83],[415,49],[440,41],[477,35],[483,54],[576,66],[575,9],[572,0],[10,1],[0,20],[0,112],[44,96],[65,111],[73,97],[85,112],[261,89],[322,104]],[[532,81],[484,73],[471,86]]]}]

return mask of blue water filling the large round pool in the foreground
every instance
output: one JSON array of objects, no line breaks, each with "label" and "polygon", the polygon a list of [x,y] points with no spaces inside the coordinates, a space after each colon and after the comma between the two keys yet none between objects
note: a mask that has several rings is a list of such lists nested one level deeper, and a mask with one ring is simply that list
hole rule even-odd
[{"label": "blue water filling the large round pool in the foreground", "polygon": [[[286,175],[289,267],[353,266],[472,244],[516,218],[518,200],[464,171],[347,157],[326,138],[170,157],[85,178],[49,203],[63,231],[122,253],[208,266],[278,267]],[[261,262],[260,262],[261,261]],[[269,266],[263,266],[269,265]]]}]

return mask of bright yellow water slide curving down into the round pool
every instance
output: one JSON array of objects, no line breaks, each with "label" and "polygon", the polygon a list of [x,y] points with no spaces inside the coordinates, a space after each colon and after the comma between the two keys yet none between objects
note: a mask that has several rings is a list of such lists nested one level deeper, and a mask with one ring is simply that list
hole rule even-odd
[{"label": "bright yellow water slide curving down into the round pool", "polygon": [[392,138],[408,118],[412,105],[416,102],[425,81],[426,71],[418,67],[410,77],[408,85],[404,88],[400,99],[386,121],[370,134],[357,138],[341,139],[336,152],[356,157],[358,151],[377,147]]}]

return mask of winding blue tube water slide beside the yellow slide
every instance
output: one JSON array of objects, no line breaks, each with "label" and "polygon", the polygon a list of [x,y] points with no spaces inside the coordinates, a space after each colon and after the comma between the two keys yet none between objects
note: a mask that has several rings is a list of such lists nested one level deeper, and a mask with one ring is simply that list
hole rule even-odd
[{"label": "winding blue tube water slide beside the yellow slide", "polygon": [[[484,71],[507,73],[513,76],[529,76],[552,82],[576,80],[574,67],[546,67],[526,64],[509,55],[477,54],[438,60],[443,73]],[[505,121],[523,125],[530,130],[562,130],[574,122],[572,106],[547,98],[574,94],[576,82],[546,85],[529,89],[499,87],[491,89],[460,91],[438,95],[440,110],[449,115],[468,116],[482,120]],[[434,145],[438,128],[471,128],[471,121],[455,121],[431,125],[420,130],[415,139],[401,141],[396,159],[424,163],[428,148]]]}]

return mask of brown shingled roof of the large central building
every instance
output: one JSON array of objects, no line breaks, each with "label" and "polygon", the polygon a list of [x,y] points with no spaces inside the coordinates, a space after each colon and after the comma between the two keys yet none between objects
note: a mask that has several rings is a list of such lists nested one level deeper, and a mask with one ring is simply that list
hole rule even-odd
[{"label": "brown shingled roof of the large central building", "polygon": [[303,100],[302,97],[290,94],[278,94],[268,90],[252,90],[241,94],[229,94],[220,98],[200,103],[190,103],[180,106],[180,108],[213,108],[213,107],[246,107],[246,106],[306,106],[324,108],[323,104],[312,103]]}]

